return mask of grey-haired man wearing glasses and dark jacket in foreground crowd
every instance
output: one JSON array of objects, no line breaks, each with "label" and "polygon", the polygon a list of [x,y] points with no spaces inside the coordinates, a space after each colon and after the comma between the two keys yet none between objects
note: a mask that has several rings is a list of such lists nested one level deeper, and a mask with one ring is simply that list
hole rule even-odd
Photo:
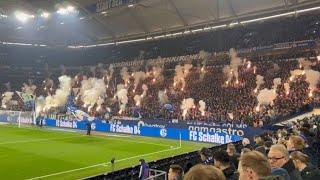
[{"label": "grey-haired man wearing glasses and dark jacket in foreground crowd", "polygon": [[272,167],[285,169],[289,173],[291,180],[301,180],[300,173],[295,169],[292,159],[289,158],[289,152],[284,145],[276,144],[271,146],[268,159]]}]

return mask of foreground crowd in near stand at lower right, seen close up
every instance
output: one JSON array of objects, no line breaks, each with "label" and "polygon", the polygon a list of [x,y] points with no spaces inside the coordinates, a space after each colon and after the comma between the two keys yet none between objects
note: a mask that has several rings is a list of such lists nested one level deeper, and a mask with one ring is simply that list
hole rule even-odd
[{"label": "foreground crowd in near stand at lower right, seen close up", "polygon": [[[168,180],[318,180],[319,116],[298,120],[295,125],[254,138],[252,146],[243,139],[242,147],[199,151],[201,164],[173,164]],[[148,164],[141,162],[140,179],[148,177]]]}]

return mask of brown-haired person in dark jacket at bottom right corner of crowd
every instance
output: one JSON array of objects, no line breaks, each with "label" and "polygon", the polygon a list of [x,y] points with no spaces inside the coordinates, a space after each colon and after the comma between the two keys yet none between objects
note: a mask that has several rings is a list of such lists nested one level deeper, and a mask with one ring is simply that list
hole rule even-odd
[{"label": "brown-haired person in dark jacket at bottom right corner of crowd", "polygon": [[300,171],[303,180],[319,180],[320,171],[312,165],[309,157],[302,152],[295,151],[290,154],[295,167]]}]

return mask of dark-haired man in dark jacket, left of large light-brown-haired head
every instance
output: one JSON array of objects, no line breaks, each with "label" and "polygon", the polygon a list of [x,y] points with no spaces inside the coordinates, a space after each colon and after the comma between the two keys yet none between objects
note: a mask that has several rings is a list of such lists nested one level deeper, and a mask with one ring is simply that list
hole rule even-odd
[{"label": "dark-haired man in dark jacket, left of large light-brown-haired head", "polygon": [[214,166],[222,170],[227,180],[237,180],[238,176],[235,174],[236,169],[233,163],[230,162],[230,157],[227,152],[219,150],[213,154]]}]

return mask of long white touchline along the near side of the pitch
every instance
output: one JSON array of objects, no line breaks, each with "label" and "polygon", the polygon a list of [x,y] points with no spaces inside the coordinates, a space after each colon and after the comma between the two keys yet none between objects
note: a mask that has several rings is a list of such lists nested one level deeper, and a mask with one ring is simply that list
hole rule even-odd
[{"label": "long white touchline along the near side of the pitch", "polygon": [[[149,155],[153,155],[153,154],[159,154],[159,153],[162,153],[162,152],[172,151],[172,150],[176,150],[176,149],[180,149],[180,148],[181,148],[181,147],[175,147],[175,148],[170,148],[170,149],[166,149],[166,150],[162,150],[162,151],[157,151],[157,152],[142,154],[142,155],[138,155],[138,156],[133,156],[133,157],[129,157],[129,158],[124,158],[124,159],[116,160],[115,162],[121,162],[121,161],[126,161],[126,160],[130,160],[130,159],[139,158],[139,157],[145,157],[145,156],[149,156]],[[108,162],[108,163],[95,164],[95,165],[92,165],[92,166],[86,166],[86,167],[82,167],[82,168],[78,168],[78,169],[72,169],[72,170],[69,170],[69,171],[62,171],[62,172],[53,173],[53,174],[48,174],[48,175],[39,176],[39,177],[34,177],[34,178],[26,179],[26,180],[41,179],[41,178],[56,176],[56,175],[65,174],[65,173],[69,173],[69,172],[80,171],[80,170],[83,170],[83,169],[90,169],[90,168],[97,167],[97,166],[106,166],[106,165],[108,165],[108,164],[110,164],[110,162]]]}]

